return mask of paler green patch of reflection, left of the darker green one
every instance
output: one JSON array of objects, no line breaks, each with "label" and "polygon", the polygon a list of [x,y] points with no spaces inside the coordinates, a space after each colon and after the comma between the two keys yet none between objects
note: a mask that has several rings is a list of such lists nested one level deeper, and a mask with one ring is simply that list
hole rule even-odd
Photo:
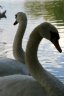
[{"label": "paler green patch of reflection, left of the darker green one", "polygon": [[28,15],[31,15],[33,18],[41,16],[43,13],[43,3],[40,1],[26,1],[25,9]]}]

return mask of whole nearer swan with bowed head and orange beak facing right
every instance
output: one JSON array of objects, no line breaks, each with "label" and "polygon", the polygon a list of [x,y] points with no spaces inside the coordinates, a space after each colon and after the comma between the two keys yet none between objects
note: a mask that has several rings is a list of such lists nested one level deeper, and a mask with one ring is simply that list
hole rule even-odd
[{"label": "whole nearer swan with bowed head and orange beak facing right", "polygon": [[62,51],[56,28],[46,22],[37,26],[29,37],[25,55],[28,68],[37,81],[27,75],[1,77],[0,96],[64,96],[64,85],[42,68],[37,59],[38,45],[42,38],[50,40],[59,52]]}]

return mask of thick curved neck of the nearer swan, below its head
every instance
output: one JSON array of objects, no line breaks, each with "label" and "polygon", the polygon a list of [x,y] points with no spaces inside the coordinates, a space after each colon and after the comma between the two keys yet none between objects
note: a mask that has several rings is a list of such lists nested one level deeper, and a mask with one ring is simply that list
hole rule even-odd
[{"label": "thick curved neck of the nearer swan, below its head", "polygon": [[[41,64],[37,59],[38,45],[42,37],[39,35],[37,30],[34,30],[29,38],[26,48],[26,63],[32,76],[43,86],[48,92],[48,96],[63,96],[62,94],[62,83],[52,76],[49,72],[42,68]],[[59,88],[59,84],[61,88]],[[60,92],[60,93],[59,93]]]}]

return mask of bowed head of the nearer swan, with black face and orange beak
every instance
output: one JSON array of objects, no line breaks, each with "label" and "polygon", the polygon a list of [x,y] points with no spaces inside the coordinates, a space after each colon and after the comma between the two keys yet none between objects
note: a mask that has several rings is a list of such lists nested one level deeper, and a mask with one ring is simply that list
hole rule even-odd
[{"label": "bowed head of the nearer swan, with black face and orange beak", "polygon": [[41,25],[41,28],[43,30],[43,32],[40,31],[40,35],[43,36],[44,38],[50,40],[54,46],[56,47],[56,49],[59,52],[62,52],[62,49],[59,45],[59,33],[58,30],[56,29],[56,27],[54,27],[52,24],[44,22]]}]

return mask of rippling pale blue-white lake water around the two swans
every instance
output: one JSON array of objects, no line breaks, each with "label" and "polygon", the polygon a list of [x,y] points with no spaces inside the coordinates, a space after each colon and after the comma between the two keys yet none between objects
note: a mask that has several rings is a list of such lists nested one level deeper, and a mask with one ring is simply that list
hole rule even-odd
[{"label": "rippling pale blue-white lake water around the two swans", "polygon": [[17,30],[14,26],[14,15],[18,11],[27,14],[28,25],[23,39],[25,50],[31,31],[40,23],[47,21],[56,26],[60,34],[60,54],[51,42],[43,40],[38,50],[38,59],[41,64],[64,82],[64,0],[0,0],[0,5],[7,10],[7,19],[0,20],[0,57],[13,58],[12,45]]}]

